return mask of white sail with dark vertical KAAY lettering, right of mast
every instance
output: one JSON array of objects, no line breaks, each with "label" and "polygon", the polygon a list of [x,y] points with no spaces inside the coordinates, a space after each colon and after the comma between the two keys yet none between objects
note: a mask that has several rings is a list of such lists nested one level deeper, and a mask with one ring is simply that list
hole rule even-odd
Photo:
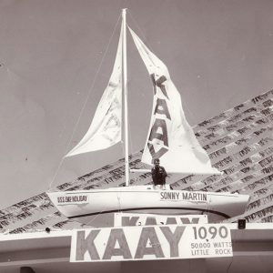
[{"label": "white sail with dark vertical KAAY lettering, right of mast", "polygon": [[[130,29],[130,28],[129,28]],[[130,29],[154,86],[152,116],[142,162],[153,164],[154,158],[167,172],[219,174],[211,167],[206,151],[184,115],[180,94],[173,84],[167,66],[155,56]]]}]

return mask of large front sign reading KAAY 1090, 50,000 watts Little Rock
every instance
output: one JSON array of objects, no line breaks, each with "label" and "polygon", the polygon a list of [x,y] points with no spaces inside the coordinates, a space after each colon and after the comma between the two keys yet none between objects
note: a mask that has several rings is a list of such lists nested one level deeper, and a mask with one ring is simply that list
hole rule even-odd
[{"label": "large front sign reading KAAY 1090, 50,000 watts Little Rock", "polygon": [[106,227],[75,230],[71,262],[232,256],[227,225]]}]

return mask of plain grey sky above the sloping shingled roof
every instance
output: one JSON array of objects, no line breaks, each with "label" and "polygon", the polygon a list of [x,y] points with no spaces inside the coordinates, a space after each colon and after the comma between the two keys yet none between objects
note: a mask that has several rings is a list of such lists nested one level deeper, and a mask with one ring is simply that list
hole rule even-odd
[{"label": "plain grey sky above the sloping shingled roof", "polygon": [[[0,208],[123,157],[116,145],[62,159],[107,85],[125,7],[127,24],[167,65],[191,126],[272,89],[270,0],[1,0]],[[136,152],[147,137],[152,84],[127,39]]]}]

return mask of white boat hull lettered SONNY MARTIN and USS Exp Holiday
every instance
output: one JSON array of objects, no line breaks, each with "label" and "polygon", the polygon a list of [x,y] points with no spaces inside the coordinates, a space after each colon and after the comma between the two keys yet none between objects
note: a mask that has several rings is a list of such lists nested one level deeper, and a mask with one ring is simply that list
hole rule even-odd
[{"label": "white boat hull lettered SONNY MARTIN and USS Exp Holiday", "polygon": [[91,227],[113,227],[114,214],[206,214],[209,223],[245,212],[249,196],[185,190],[160,190],[151,186],[113,187],[47,193],[67,218]]}]

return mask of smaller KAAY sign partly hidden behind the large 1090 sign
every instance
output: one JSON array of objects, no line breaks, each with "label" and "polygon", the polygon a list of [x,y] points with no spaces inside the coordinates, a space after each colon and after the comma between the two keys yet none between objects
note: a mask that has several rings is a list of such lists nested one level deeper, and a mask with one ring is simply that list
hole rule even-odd
[{"label": "smaller KAAY sign partly hidden behind the large 1090 sign", "polygon": [[115,227],[207,224],[207,215],[156,215],[136,213],[115,213]]}]

